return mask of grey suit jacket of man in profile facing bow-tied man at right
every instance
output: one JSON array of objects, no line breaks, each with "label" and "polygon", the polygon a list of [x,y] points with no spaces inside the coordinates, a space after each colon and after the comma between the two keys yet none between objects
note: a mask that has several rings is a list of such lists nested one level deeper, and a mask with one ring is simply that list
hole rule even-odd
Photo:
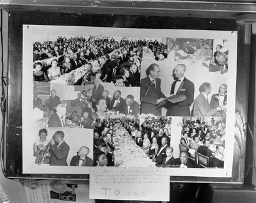
[{"label": "grey suit jacket of man in profile facing bow-tied man at right", "polygon": [[209,117],[214,116],[217,109],[210,108],[209,101],[205,98],[203,93],[200,93],[194,102],[194,116],[196,117]]}]

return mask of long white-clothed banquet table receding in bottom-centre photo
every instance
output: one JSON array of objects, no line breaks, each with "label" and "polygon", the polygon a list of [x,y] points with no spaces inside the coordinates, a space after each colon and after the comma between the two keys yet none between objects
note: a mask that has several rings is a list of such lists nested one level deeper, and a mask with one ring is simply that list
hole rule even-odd
[{"label": "long white-clothed banquet table receding in bottom-centre photo", "polygon": [[119,163],[120,167],[156,167],[156,163],[152,162],[143,149],[136,145],[123,126],[116,125],[113,142],[115,144],[115,164]]}]

